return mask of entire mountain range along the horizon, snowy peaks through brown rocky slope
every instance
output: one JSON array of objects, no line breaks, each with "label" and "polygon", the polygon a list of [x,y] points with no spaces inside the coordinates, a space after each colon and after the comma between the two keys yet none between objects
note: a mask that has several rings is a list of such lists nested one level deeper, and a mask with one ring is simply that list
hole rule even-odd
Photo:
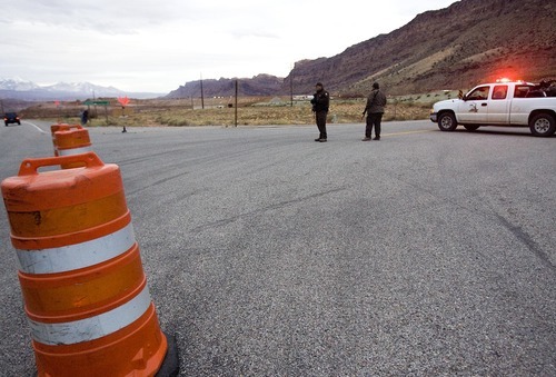
[{"label": "entire mountain range along the horizon, snowy peaks through brown rocky slope", "polygon": [[[427,11],[406,26],[316,60],[296,62],[288,77],[203,80],[206,97],[307,95],[321,81],[335,96],[366,96],[374,81],[390,95],[469,89],[500,77],[540,81],[556,78],[556,2],[546,0],[460,0]],[[0,80],[0,98],[76,100],[96,97],[156,98],[91,83],[38,86]],[[201,97],[190,81],[166,98]]]}]

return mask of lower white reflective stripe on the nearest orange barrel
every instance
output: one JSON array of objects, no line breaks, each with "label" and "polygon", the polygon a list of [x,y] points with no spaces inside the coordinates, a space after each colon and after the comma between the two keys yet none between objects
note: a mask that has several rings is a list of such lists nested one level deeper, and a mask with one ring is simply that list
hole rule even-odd
[{"label": "lower white reflective stripe on the nearest orange barrel", "polygon": [[75,345],[110,335],[135,323],[151,305],[148,286],[130,301],[101,315],[62,324],[29,319],[31,335],[43,345]]}]

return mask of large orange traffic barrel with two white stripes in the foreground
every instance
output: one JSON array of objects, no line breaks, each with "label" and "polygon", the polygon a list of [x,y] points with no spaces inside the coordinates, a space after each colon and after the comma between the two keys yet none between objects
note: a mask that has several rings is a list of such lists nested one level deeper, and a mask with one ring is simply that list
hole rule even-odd
[{"label": "large orange traffic barrel with two white stripes in the foreground", "polygon": [[[39,169],[82,163],[76,169]],[[2,181],[39,376],[153,376],[160,330],[119,167],[28,159]]]}]

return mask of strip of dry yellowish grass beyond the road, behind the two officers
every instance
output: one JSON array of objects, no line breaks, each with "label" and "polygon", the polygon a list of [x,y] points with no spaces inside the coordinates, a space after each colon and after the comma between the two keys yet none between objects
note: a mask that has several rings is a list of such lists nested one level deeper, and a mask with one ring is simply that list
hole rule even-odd
[{"label": "strip of dry yellowish grass beyond the road, behind the two officers", "polygon": [[[430,105],[446,99],[447,93],[401,96],[390,98],[384,120],[426,119]],[[361,112],[366,99],[332,99],[328,115],[329,123],[363,122]],[[262,125],[312,125],[315,122],[309,101],[294,101],[289,98],[241,98],[237,112],[231,99],[205,100],[132,100],[126,109],[110,100],[110,106],[90,107],[91,126],[238,126]],[[231,106],[231,107],[230,107]],[[24,118],[50,119],[67,123],[79,122],[79,113],[86,109],[80,102],[41,103],[21,111]]]}]

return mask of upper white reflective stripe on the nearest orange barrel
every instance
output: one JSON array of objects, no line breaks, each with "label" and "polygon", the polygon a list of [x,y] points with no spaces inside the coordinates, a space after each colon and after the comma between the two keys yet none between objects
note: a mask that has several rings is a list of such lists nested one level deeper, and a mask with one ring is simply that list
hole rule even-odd
[{"label": "upper white reflective stripe on the nearest orange barrel", "polygon": [[113,234],[76,245],[51,249],[17,250],[19,270],[56,274],[90,267],[122,255],[136,242],[132,224]]}]

